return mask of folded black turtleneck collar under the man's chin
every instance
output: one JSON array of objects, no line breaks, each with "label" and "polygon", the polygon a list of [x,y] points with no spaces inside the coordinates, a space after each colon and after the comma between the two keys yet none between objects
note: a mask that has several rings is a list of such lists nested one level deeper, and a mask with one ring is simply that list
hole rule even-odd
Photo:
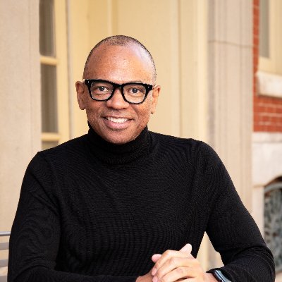
[{"label": "folded black turtleneck collar under the man's chin", "polygon": [[151,137],[147,126],[135,140],[122,145],[116,145],[104,140],[88,123],[87,140],[91,152],[100,160],[108,164],[127,164],[135,159],[147,155],[151,147]]}]

